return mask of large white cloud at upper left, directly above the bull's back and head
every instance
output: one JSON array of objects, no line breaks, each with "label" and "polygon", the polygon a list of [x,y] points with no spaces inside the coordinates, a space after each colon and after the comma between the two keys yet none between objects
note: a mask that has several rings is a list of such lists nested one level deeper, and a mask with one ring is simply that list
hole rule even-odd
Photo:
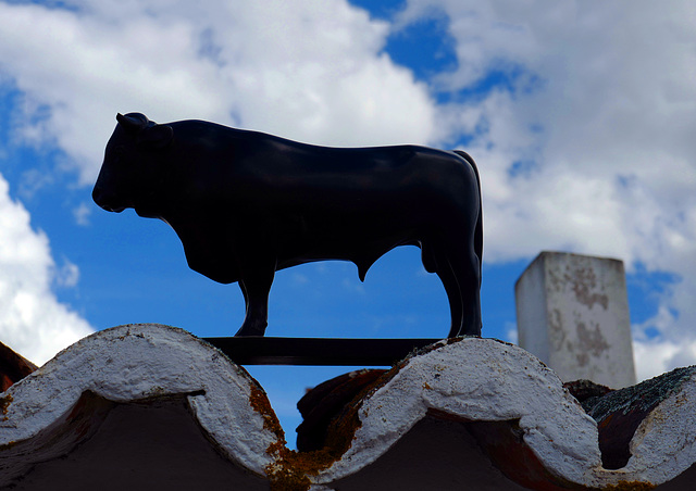
[{"label": "large white cloud at upper left, directly above the bull's back and head", "polygon": [[[92,181],[116,112],[204,118],[324,144],[426,142],[427,88],[380,54],[387,25],[343,0],[0,3],[0,72],[26,141]],[[408,104],[405,104],[408,101]]]}]

